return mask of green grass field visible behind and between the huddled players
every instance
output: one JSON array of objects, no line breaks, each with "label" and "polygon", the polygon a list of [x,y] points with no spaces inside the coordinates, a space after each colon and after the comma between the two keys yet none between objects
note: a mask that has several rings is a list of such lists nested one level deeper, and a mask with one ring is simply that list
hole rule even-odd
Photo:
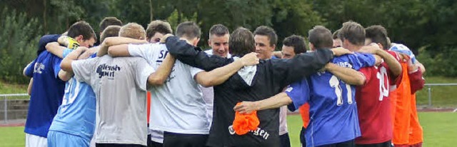
[{"label": "green grass field visible behind and between the huddled players", "polygon": [[[291,146],[300,146],[298,134],[302,122],[300,115],[288,116],[288,133]],[[421,112],[419,119],[423,127],[424,147],[454,147],[457,140],[457,113]],[[0,127],[0,147],[24,146],[24,127]]]}]

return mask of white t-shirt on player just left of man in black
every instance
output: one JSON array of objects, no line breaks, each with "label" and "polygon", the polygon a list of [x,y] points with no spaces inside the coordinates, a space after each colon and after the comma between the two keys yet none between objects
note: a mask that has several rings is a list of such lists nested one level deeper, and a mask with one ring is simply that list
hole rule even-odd
[{"label": "white t-shirt on player just left of man in black", "polygon": [[[141,56],[158,69],[168,50],[165,44],[129,44],[131,56]],[[200,85],[194,76],[203,70],[176,60],[162,86],[151,86],[149,128],[172,133],[209,134],[209,119]]]}]

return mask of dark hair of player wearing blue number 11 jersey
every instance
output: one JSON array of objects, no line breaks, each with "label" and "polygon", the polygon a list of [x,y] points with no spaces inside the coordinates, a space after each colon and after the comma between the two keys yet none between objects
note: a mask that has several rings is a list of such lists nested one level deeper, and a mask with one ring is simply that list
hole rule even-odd
[{"label": "dark hair of player wearing blue number 11 jersey", "polygon": [[315,49],[331,48],[333,46],[332,34],[324,26],[314,26],[313,29],[309,30],[308,39]]}]

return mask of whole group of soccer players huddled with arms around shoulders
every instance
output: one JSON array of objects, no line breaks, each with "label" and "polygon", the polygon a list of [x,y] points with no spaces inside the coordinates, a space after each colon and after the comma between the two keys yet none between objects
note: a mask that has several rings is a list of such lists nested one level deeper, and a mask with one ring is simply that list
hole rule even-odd
[{"label": "whole group of soccer players huddled with arms around shoulders", "polygon": [[[231,34],[186,21],[145,30],[115,17],[43,36],[31,77],[26,146],[290,146],[287,109],[300,109],[302,146],[421,146],[414,93],[425,71],[383,26],[315,26],[275,52],[276,32]],[[304,34],[303,34],[304,35]],[[149,96],[149,92],[150,96]],[[244,117],[246,116],[246,117]],[[258,122],[258,123],[256,123]]]}]

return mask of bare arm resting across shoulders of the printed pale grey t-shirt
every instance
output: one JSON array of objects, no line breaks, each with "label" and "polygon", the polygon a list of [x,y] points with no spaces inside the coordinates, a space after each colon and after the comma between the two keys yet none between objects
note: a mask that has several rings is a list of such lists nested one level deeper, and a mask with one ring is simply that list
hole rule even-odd
[{"label": "bare arm resting across shoulders of the printed pale grey t-shirt", "polygon": [[139,40],[139,39],[131,39],[126,37],[108,37],[106,38],[103,43],[101,43],[101,47],[97,56],[104,56],[108,54],[108,48],[110,46],[116,46],[120,44],[146,44],[148,41],[146,40]]}]

